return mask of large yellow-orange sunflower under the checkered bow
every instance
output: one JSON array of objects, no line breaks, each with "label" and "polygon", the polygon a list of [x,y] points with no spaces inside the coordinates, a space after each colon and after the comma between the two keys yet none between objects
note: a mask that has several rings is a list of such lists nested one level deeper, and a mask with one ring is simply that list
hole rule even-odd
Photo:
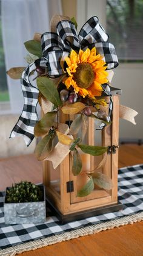
[{"label": "large yellow-orange sunflower under the checkered bow", "polygon": [[101,96],[101,84],[108,82],[108,73],[105,71],[107,64],[102,59],[103,56],[96,53],[95,47],[85,51],[80,49],[78,54],[71,50],[70,57],[64,59],[68,66],[68,77],[63,81],[65,86],[73,87],[75,93],[83,98]]}]

